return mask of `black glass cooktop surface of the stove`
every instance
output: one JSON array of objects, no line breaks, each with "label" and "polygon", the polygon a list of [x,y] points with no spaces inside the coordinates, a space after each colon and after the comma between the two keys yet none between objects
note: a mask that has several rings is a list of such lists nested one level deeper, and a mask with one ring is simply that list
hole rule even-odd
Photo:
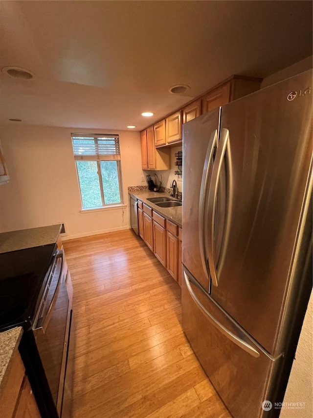
[{"label": "black glass cooktop surface of the stove", "polygon": [[0,331],[32,325],[56,244],[0,254]]}]

